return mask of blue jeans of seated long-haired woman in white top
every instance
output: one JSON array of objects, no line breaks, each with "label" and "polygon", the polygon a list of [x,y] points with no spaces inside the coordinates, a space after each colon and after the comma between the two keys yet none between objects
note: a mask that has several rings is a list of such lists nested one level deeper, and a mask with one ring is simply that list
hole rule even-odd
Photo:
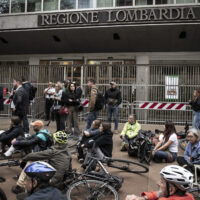
[{"label": "blue jeans of seated long-haired woman in white top", "polygon": [[[170,152],[170,153],[172,156],[171,162],[173,162],[174,160],[176,160],[177,153],[174,153],[174,152]],[[153,160],[157,163],[162,163],[163,160],[165,160],[165,162],[170,162],[169,161],[170,157],[166,151],[156,151],[156,153],[154,154]]]}]

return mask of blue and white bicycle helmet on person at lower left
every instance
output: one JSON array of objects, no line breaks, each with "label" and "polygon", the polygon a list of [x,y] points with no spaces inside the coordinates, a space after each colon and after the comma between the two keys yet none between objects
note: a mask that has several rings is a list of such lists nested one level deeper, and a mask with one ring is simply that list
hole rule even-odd
[{"label": "blue and white bicycle helmet on person at lower left", "polygon": [[49,181],[56,173],[56,169],[46,162],[33,162],[29,164],[24,172],[31,178],[37,178],[43,181]]}]

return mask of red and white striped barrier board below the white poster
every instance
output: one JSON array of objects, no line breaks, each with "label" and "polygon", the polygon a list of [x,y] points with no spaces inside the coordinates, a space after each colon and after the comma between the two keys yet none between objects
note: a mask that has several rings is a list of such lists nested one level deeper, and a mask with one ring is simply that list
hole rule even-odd
[{"label": "red and white striped barrier board below the white poster", "polygon": [[139,104],[139,108],[153,110],[186,110],[186,105],[183,103],[143,102]]}]

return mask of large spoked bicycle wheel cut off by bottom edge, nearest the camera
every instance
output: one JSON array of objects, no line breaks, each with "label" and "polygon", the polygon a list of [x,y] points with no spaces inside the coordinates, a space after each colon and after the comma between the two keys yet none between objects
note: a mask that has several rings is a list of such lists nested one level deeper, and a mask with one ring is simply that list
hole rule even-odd
[{"label": "large spoked bicycle wheel cut off by bottom edge, nearest the camera", "polygon": [[119,200],[117,191],[108,183],[83,180],[72,184],[66,193],[67,200]]}]

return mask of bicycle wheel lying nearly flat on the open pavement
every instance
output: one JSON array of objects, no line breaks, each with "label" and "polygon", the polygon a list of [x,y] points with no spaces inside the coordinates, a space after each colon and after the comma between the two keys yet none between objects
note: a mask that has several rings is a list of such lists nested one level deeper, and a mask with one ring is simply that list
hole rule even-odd
[{"label": "bicycle wheel lying nearly flat on the open pavement", "polygon": [[140,173],[147,173],[149,171],[149,168],[146,167],[145,165],[130,160],[109,159],[107,165],[109,167],[121,169],[123,171],[130,173],[140,174]]}]

